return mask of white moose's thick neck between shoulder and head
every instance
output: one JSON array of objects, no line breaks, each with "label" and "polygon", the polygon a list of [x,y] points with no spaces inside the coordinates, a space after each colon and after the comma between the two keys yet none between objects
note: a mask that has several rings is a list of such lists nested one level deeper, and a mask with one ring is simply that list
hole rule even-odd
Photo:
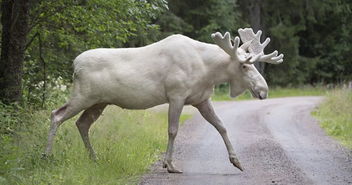
[{"label": "white moose's thick neck between shoulder and head", "polygon": [[238,64],[219,46],[203,43],[199,50],[208,71],[206,79],[213,85],[229,82],[236,75]]}]

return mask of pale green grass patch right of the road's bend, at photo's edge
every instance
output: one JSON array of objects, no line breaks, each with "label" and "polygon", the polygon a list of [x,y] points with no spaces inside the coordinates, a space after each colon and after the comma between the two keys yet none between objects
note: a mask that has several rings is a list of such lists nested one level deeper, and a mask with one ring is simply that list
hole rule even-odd
[{"label": "pale green grass patch right of the road's bend, at photo's edge", "polygon": [[352,149],[352,91],[337,89],[327,93],[326,100],[314,111],[328,135]]}]

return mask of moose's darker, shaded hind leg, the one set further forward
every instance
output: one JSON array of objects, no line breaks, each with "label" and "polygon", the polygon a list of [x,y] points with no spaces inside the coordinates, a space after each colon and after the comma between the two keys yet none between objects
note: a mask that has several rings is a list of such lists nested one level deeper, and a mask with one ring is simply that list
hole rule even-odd
[{"label": "moose's darker, shaded hind leg, the one set further forward", "polygon": [[89,156],[91,159],[96,160],[96,154],[93,150],[92,145],[89,141],[89,128],[96,121],[99,116],[102,114],[104,108],[107,104],[96,104],[92,107],[86,109],[83,114],[79,117],[76,122],[79,133],[81,134],[84,146],[89,152]]}]

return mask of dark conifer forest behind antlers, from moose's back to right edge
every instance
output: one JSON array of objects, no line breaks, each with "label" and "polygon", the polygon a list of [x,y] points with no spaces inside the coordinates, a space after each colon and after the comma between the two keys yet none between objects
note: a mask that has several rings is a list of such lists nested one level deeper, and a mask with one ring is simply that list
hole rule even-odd
[{"label": "dark conifer forest behind antlers, from moose's back to right edge", "polygon": [[[253,3],[260,3],[260,25],[272,42],[267,52],[285,54],[284,63],[266,65],[273,85],[344,83],[352,80],[352,3],[348,0],[169,0],[170,11],[158,19],[161,38],[182,33],[210,42],[210,34],[248,27]],[[241,5],[241,7],[239,7]],[[289,8],[288,8],[289,7]]]}]

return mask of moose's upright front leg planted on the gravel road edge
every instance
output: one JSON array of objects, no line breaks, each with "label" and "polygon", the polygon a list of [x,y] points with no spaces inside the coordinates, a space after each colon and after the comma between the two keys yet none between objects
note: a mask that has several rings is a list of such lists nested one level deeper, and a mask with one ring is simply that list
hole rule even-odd
[{"label": "moose's upright front leg planted on the gravel road edge", "polygon": [[172,100],[169,103],[169,141],[167,145],[165,160],[163,163],[163,167],[167,168],[169,173],[182,173],[182,171],[175,168],[172,164],[172,153],[174,149],[174,141],[178,131],[179,119],[182,112],[182,108],[184,105],[183,100]]}]

